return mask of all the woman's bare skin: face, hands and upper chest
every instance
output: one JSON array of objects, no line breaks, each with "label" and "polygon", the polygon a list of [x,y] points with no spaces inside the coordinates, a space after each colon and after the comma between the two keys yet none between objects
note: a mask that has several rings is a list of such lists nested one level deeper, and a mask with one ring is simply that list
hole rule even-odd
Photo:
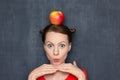
[{"label": "all the woman's bare skin: face, hands and upper chest", "polygon": [[48,32],[44,44],[46,56],[50,64],[43,64],[34,69],[28,80],[36,80],[37,77],[45,76],[46,80],[64,80],[68,74],[73,74],[78,80],[86,80],[77,63],[65,63],[68,52],[71,49],[71,43],[65,34]]}]

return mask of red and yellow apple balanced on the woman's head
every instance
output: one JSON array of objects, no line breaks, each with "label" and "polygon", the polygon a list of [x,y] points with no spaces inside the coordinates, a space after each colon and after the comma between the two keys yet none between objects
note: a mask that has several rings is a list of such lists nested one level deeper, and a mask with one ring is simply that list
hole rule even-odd
[{"label": "red and yellow apple balanced on the woman's head", "polygon": [[50,13],[49,19],[51,24],[60,25],[64,22],[64,14],[59,10],[55,10]]}]

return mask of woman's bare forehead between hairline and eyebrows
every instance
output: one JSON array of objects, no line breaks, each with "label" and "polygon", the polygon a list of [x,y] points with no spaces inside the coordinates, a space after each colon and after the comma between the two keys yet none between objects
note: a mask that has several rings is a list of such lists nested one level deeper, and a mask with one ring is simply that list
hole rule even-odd
[{"label": "woman's bare forehead between hairline and eyebrows", "polygon": [[59,43],[66,42],[68,43],[68,36],[62,33],[57,32],[47,32],[45,42]]}]

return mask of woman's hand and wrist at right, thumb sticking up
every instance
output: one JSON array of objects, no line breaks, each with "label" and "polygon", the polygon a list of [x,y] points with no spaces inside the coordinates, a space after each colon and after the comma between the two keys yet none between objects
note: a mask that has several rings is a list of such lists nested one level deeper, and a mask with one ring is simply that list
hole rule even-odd
[{"label": "woman's hand and wrist at right, thumb sticking up", "polygon": [[83,71],[80,68],[78,68],[75,61],[73,61],[73,64],[71,64],[71,63],[61,64],[59,67],[57,67],[57,69],[59,71],[67,72],[67,73],[70,73],[70,74],[76,76],[78,78],[78,80],[86,80],[85,74],[83,73]]}]

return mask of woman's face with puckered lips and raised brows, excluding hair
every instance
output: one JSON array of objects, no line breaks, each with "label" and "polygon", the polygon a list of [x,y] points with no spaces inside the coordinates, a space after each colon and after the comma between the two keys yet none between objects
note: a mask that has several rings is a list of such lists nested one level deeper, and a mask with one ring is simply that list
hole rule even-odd
[{"label": "woman's face with puckered lips and raised brows, excluding hair", "polygon": [[60,65],[65,63],[67,54],[71,49],[71,43],[69,43],[68,36],[65,34],[48,32],[44,49],[50,64]]}]

